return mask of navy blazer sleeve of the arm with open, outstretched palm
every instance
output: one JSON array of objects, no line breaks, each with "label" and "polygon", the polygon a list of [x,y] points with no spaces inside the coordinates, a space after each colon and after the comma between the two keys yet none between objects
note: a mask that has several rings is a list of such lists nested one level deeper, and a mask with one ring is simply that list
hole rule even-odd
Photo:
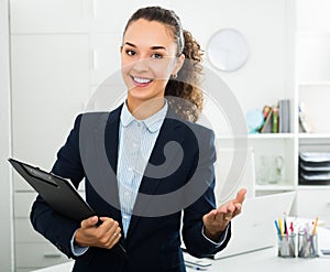
[{"label": "navy blazer sleeve of the arm with open, outstretched palm", "polygon": [[[202,141],[199,141],[198,143],[200,155],[196,159],[199,161],[191,178],[198,178],[197,182],[206,183],[207,189],[194,204],[184,210],[183,239],[187,251],[191,255],[205,258],[210,257],[227,247],[231,237],[231,225],[229,224],[228,226],[227,236],[226,231],[223,231],[223,233],[220,236],[218,241],[221,242],[220,247],[217,247],[216,243],[209,241],[202,235],[202,216],[216,208],[216,179],[213,168],[213,163],[216,161],[216,149],[215,134],[211,130],[204,129],[200,139],[202,139]],[[191,192],[186,192],[186,194],[191,195]]]}]

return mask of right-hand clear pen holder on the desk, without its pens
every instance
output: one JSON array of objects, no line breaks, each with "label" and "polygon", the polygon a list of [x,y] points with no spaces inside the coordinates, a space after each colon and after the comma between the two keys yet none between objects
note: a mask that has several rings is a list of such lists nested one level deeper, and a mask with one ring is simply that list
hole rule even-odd
[{"label": "right-hand clear pen holder on the desk, without its pens", "polygon": [[299,232],[298,233],[298,257],[316,258],[318,257],[318,236]]}]

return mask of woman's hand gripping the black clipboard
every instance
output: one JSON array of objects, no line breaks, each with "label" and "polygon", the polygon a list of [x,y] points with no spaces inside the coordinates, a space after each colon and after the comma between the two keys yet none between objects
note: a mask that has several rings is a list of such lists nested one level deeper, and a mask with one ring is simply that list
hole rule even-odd
[{"label": "woman's hand gripping the black clipboard", "polygon": [[97,226],[98,217],[92,216],[81,221],[75,236],[75,242],[80,247],[98,247],[111,249],[121,238],[118,221],[109,217],[100,217],[101,225]]}]

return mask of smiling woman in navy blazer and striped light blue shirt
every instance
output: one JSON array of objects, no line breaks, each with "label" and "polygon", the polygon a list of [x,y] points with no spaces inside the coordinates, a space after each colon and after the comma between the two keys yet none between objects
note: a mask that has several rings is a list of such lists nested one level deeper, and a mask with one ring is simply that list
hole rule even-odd
[{"label": "smiling woman in navy blazer and striped light blue shirt", "polygon": [[[173,11],[143,8],[129,20],[121,46],[125,102],[106,118],[80,115],[53,167],[76,187],[85,177],[99,218],[70,221],[40,196],[32,207],[34,228],[76,259],[74,271],[186,271],[180,228],[193,255],[227,246],[245,191],[216,208],[213,133],[190,122],[202,105],[200,61],[198,43]],[[114,173],[107,178],[100,142]],[[179,149],[164,155],[169,142]]]}]

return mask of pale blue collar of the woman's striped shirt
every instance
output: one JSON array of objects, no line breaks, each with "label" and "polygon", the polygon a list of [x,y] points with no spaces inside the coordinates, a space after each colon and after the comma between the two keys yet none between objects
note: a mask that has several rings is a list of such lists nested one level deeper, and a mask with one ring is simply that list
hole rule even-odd
[{"label": "pale blue collar of the woman's striped shirt", "polygon": [[158,110],[156,113],[148,117],[147,119],[136,120],[130,112],[125,101],[121,110],[120,121],[124,128],[129,127],[132,122],[143,122],[150,132],[156,132],[161,129],[163,124],[163,121],[167,113],[167,109],[168,109],[168,105],[167,105],[167,100],[165,99],[164,107],[161,110]]}]

